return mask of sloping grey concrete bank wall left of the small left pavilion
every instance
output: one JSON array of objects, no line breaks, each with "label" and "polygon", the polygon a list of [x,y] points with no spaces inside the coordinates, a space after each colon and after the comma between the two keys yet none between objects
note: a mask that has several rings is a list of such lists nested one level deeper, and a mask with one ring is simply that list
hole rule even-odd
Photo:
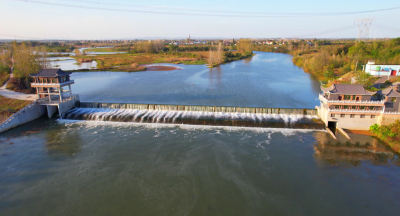
[{"label": "sloping grey concrete bank wall left of the small left pavilion", "polygon": [[0,125],[0,132],[25,124],[46,114],[46,106],[31,103]]}]

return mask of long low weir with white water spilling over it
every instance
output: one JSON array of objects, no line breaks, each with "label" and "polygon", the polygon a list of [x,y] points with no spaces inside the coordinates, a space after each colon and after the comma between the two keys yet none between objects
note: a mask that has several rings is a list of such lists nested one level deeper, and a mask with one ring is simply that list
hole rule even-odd
[{"label": "long low weir with white water spilling over it", "polygon": [[[88,106],[91,108],[87,108]],[[306,109],[81,103],[80,107],[64,113],[62,119],[324,129],[324,123],[316,115],[312,115],[313,112]]]}]

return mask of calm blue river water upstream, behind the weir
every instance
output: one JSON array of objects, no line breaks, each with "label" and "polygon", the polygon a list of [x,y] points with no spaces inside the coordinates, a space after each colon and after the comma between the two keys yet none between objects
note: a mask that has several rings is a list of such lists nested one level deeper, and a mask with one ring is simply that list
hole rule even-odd
[{"label": "calm blue river water upstream, behind the weir", "polygon": [[209,69],[171,65],[174,71],[73,73],[82,101],[183,105],[314,108],[319,82],[286,54],[256,56]]}]

